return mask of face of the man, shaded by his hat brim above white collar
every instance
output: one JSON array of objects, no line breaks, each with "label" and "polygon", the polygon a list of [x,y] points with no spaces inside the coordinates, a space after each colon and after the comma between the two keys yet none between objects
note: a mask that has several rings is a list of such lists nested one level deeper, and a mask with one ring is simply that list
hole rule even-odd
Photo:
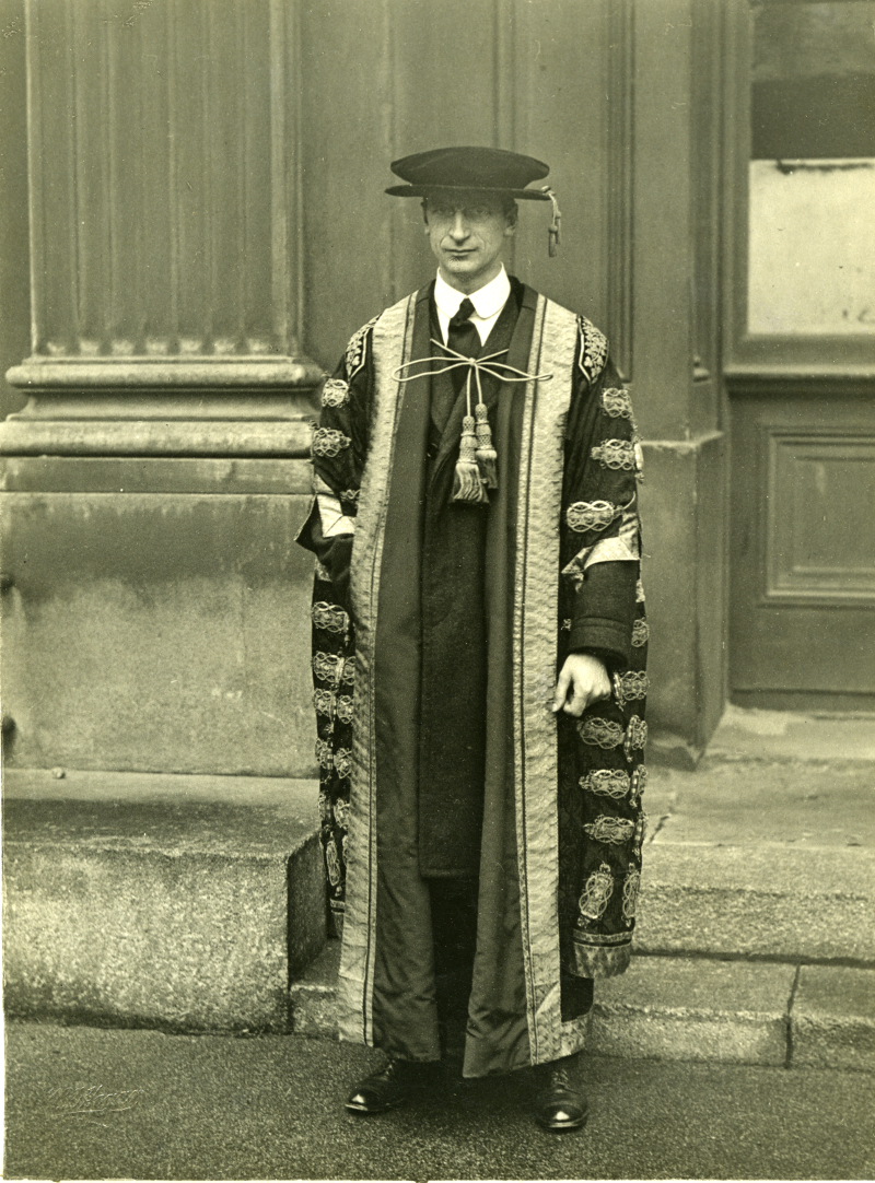
[{"label": "face of the man, shaded by his hat brim above white collar", "polygon": [[501,254],[516,230],[500,198],[436,194],[425,202],[425,233],[440,274],[461,292],[476,292],[501,271]]}]

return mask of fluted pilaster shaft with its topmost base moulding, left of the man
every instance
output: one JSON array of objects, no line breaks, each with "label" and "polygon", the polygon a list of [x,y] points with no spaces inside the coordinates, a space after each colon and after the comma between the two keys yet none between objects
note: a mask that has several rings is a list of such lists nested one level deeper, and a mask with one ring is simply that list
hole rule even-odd
[{"label": "fluted pilaster shaft with its topmost base moulding, left of the man", "polygon": [[64,392],[313,386],[297,45],[282,0],[28,0],[32,353],[9,381],[58,418]]}]

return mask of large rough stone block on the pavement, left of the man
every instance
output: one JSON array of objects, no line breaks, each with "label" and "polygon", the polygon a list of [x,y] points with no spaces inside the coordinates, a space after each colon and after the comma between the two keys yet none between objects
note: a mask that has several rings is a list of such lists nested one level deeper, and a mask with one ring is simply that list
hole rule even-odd
[{"label": "large rough stone block on the pavement, left of the man", "polygon": [[288,1030],[326,939],[310,781],[11,769],[4,873],[19,1017]]}]

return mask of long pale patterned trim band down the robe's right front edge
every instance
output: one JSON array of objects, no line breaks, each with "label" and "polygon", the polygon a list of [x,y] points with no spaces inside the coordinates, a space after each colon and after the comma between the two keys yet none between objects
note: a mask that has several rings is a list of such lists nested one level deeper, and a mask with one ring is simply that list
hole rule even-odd
[{"label": "long pale patterned trim band down the robe's right front edge", "polygon": [[[562,517],[565,426],[578,357],[577,317],[538,297],[527,369],[549,382],[526,386],[519,454],[513,692],[516,849],[526,1013],[533,1064],[579,1046],[585,1024],[562,1022],[556,875],[559,751],[545,687],[555,680],[556,571]],[[496,874],[501,874],[497,870]],[[490,871],[489,874],[493,874]]]}]

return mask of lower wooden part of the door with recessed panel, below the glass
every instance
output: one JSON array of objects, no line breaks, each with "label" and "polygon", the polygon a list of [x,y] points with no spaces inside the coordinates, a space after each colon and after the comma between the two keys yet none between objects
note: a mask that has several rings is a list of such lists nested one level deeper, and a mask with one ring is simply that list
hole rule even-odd
[{"label": "lower wooden part of the door with recessed panel, below the glass", "polygon": [[873,403],[792,395],[733,400],[732,697],[871,709]]}]

